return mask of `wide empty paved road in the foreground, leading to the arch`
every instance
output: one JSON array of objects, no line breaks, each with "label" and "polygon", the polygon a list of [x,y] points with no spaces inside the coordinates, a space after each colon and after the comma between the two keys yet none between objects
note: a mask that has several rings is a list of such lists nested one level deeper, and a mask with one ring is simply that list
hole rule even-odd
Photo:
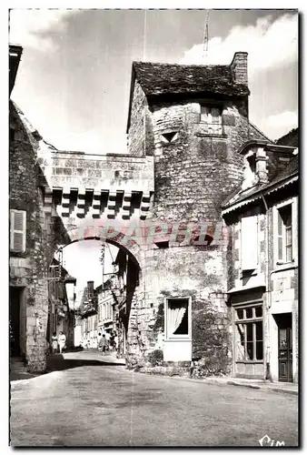
[{"label": "wide empty paved road in the foreground, leading to the arch", "polygon": [[100,360],[67,353],[60,371],[13,383],[11,444],[259,446],[265,435],[298,443],[296,396],[147,376]]}]

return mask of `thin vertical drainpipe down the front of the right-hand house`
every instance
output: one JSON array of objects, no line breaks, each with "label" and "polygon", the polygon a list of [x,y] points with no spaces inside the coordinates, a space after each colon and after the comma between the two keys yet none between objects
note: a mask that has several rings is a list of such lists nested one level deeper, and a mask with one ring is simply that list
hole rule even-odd
[{"label": "thin vertical drainpipe down the front of the right-hand house", "polygon": [[265,379],[269,379],[272,382],[272,374],[271,374],[271,330],[270,330],[270,316],[269,316],[269,309],[271,308],[271,292],[269,291],[269,209],[266,203],[265,198],[262,195],[263,205],[265,207],[265,292],[266,292],[266,306],[265,306],[265,317],[267,321],[267,328],[268,328],[268,342],[265,343],[265,360],[266,360],[266,372],[265,372]]}]

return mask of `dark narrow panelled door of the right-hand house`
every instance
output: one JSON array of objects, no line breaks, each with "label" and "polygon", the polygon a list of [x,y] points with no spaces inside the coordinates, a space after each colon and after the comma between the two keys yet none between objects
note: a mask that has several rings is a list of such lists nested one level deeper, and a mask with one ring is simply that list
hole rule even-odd
[{"label": "dark narrow panelled door of the right-hand house", "polygon": [[292,382],[292,315],[284,314],[278,321],[279,380]]}]

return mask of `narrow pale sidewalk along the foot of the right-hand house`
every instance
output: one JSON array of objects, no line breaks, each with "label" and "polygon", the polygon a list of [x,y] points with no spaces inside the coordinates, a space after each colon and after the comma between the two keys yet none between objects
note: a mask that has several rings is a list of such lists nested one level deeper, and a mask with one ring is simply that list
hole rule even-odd
[{"label": "narrow pale sidewalk along the foot of the right-hand house", "polygon": [[293,382],[271,382],[269,380],[254,380],[254,379],[240,379],[240,378],[206,378],[203,379],[207,383],[219,383],[223,385],[231,385],[237,387],[248,387],[250,389],[266,389],[273,392],[290,393],[298,395],[298,384]]}]

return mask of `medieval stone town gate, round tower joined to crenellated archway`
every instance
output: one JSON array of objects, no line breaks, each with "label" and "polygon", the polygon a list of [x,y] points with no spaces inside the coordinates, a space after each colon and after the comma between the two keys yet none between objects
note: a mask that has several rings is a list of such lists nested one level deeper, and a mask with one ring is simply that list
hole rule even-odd
[{"label": "medieval stone town gate, round tower joined to crenellated archway", "polygon": [[[39,151],[45,213],[56,207],[70,241],[108,238],[139,264],[128,366],[150,363],[147,354],[162,336],[164,362],[205,358],[213,369],[227,369],[221,205],[242,181],[238,148],[258,134],[248,120],[248,96],[245,53],[228,66],[134,62],[129,155]],[[203,244],[208,224],[211,241]]]}]

